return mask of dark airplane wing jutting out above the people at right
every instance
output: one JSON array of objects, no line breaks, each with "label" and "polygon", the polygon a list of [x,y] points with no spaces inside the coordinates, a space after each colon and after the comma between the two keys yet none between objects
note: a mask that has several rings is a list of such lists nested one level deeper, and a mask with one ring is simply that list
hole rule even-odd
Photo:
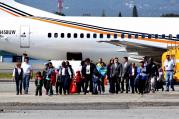
[{"label": "dark airplane wing jutting out above the people at right", "polygon": [[125,47],[126,51],[129,53],[137,52],[139,56],[147,56],[153,58],[156,62],[161,62],[161,56],[166,49],[156,48],[152,46],[145,46],[137,43],[129,43],[123,42],[118,40],[111,40],[111,41],[98,41],[98,42],[105,42],[109,44],[113,44],[119,47]]}]

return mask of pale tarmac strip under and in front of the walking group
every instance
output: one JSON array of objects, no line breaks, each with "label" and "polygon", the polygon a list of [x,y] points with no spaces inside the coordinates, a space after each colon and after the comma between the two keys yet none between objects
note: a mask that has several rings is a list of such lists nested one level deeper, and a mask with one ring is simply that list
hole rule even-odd
[{"label": "pale tarmac strip under and in front of the walking group", "polygon": [[[54,88],[55,89],[55,88]],[[0,82],[0,109],[20,110],[84,110],[84,109],[129,109],[131,107],[179,106],[179,86],[175,91],[158,91],[144,95],[109,94],[101,95],[45,95],[35,96],[34,82],[30,83],[28,95],[15,94],[15,82]]]}]

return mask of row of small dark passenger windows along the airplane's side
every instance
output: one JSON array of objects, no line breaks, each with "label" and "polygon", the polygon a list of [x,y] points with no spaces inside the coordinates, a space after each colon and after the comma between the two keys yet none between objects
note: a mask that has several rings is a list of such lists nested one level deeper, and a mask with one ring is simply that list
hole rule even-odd
[{"label": "row of small dark passenger windows along the airplane's side", "polygon": [[[168,36],[166,36],[165,34],[162,34],[162,35],[158,35],[158,34],[129,34],[129,33],[119,33],[121,35],[121,38],[139,38],[139,36],[141,38],[155,38],[155,39],[158,39],[158,38],[162,38],[162,39],[173,39],[174,37],[172,36],[172,34],[169,34]],[[80,33],[80,34],[77,34],[77,33],[48,33],[48,38],[65,38],[65,36],[67,38],[104,38],[104,34],[96,34],[96,33],[93,33],[93,34],[90,34],[90,33],[87,33],[87,34],[84,34],[84,33]],[[115,33],[115,34],[106,34],[106,37],[107,38],[118,38],[118,34]],[[179,39],[179,34],[176,36],[177,39]]]}]

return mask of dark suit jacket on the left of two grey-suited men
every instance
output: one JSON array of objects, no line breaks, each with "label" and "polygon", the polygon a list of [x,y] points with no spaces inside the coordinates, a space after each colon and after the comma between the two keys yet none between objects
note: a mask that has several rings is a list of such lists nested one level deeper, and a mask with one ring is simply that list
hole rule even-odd
[{"label": "dark suit jacket on the left of two grey-suited men", "polygon": [[115,67],[115,63],[112,65],[111,74],[112,77],[122,77],[122,64],[117,63],[117,67]]}]

